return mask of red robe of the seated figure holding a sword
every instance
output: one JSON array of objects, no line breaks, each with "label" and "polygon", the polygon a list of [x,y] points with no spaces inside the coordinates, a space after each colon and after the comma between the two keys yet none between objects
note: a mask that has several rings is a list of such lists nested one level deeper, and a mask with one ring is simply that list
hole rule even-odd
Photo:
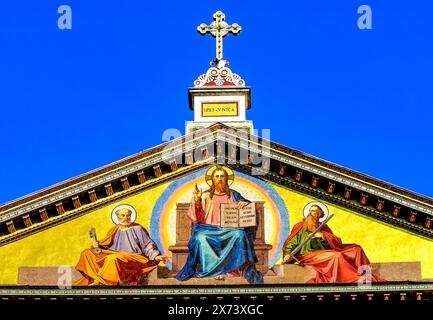
[{"label": "red robe of the seated figure holding a sword", "polygon": [[[284,247],[303,226],[304,221],[301,221],[293,227]],[[365,269],[363,272],[358,272],[360,266],[370,265],[370,261],[359,245],[343,244],[327,225],[323,226],[321,232],[332,249],[316,250],[299,258],[303,264],[316,270],[316,276],[309,279],[308,283],[356,283],[369,278],[372,282],[383,281],[372,273],[369,277]]]}]

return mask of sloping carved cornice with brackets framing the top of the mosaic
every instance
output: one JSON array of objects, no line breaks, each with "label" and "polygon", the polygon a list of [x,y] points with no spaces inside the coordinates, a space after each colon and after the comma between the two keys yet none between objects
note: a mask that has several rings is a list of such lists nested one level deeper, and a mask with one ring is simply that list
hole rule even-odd
[{"label": "sloping carved cornice with brackets framing the top of the mosaic", "polygon": [[0,207],[0,245],[212,163],[433,238],[433,200],[221,123]]}]

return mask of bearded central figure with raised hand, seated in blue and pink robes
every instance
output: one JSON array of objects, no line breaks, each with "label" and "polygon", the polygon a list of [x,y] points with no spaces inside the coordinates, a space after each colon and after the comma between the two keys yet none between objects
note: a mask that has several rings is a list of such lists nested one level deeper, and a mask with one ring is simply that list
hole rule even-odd
[{"label": "bearded central figure with raised hand, seated in blue and pink robes", "polygon": [[[251,284],[263,282],[262,274],[255,268],[256,227],[221,227],[221,204],[237,204],[242,209],[251,203],[229,188],[227,170],[230,169],[213,166],[206,175],[210,189],[202,192],[195,186],[188,211],[188,217],[193,222],[189,254],[185,266],[176,275],[178,280],[191,277],[224,280],[239,276]],[[233,179],[233,175],[230,178]]]}]

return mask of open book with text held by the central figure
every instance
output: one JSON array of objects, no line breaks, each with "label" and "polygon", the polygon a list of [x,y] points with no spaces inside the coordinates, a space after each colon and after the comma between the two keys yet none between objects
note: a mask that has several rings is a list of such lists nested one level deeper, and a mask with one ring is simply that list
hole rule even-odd
[{"label": "open book with text held by the central figure", "polygon": [[243,209],[238,209],[237,204],[221,204],[221,227],[246,228],[256,225],[255,203],[250,203]]}]

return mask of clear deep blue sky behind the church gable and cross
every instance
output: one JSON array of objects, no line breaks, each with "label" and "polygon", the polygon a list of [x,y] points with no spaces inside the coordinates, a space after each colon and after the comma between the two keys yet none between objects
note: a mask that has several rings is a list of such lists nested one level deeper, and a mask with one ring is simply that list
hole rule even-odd
[{"label": "clear deep blue sky behind the church gable and cross", "polygon": [[217,10],[243,28],[224,56],[256,128],[433,197],[431,1],[23,0],[0,5],[0,203],[184,131],[187,88],[215,54],[196,27]]}]

